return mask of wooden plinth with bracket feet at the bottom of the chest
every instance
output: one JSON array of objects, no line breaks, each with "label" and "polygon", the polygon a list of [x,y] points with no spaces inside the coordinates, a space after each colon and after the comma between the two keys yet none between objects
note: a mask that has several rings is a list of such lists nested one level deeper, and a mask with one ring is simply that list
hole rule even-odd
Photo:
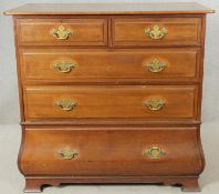
[{"label": "wooden plinth with bracket feet at the bottom of the chest", "polygon": [[40,193],[44,185],[59,186],[60,183],[163,183],[168,186],[180,186],[184,192],[200,192],[198,176],[50,176],[25,178],[27,193]]}]

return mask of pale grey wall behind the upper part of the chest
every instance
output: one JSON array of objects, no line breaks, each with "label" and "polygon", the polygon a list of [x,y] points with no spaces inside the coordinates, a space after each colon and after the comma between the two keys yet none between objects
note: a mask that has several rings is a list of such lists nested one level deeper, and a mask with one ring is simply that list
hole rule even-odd
[{"label": "pale grey wall behind the upper part of the chest", "polygon": [[[28,2],[136,2],[135,0],[0,0],[0,12]],[[138,0],[137,2],[188,2],[188,0]],[[196,0],[215,9],[207,18],[202,121],[219,120],[219,0]],[[0,16],[0,123],[18,123],[15,54],[11,17]]]}]

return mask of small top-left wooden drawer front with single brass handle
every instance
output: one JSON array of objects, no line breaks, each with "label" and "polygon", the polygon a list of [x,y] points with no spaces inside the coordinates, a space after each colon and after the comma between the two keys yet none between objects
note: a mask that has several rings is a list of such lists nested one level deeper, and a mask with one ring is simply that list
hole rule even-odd
[{"label": "small top-left wooden drawer front with single brass handle", "polygon": [[18,19],[21,45],[106,45],[106,19]]}]

